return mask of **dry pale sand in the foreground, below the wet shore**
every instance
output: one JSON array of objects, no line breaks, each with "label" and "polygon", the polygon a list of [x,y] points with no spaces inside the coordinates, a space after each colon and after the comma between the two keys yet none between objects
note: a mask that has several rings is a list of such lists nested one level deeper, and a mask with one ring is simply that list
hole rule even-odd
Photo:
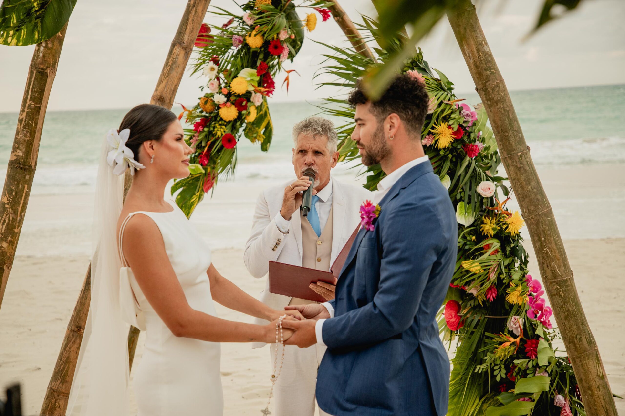
[{"label": "dry pale sand in the foreground, below the wet shore", "polygon": [[[625,239],[565,241],[575,273],[579,297],[606,367],[612,390],[625,395],[625,288],[619,284],[625,270]],[[539,275],[531,248],[532,275]],[[247,293],[257,294],[264,283],[247,273],[241,249],[213,252],[215,266]],[[38,414],[49,377],[76,302],[85,256],[49,256],[16,259],[0,314],[0,385],[22,383],[27,415]],[[239,312],[217,305],[224,319],[251,322]],[[137,360],[143,352],[139,340]],[[223,344],[221,374],[224,415],[254,415],[269,393],[269,357],[266,349],[247,344]],[[625,400],[617,399],[625,415]]]}]

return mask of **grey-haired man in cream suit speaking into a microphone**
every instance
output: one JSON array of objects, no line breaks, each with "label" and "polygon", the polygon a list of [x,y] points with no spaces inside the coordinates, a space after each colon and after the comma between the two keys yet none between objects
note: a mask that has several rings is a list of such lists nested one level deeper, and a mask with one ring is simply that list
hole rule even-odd
[{"label": "grey-haired man in cream suit speaking into a microphone", "polygon": [[[322,117],[307,117],[294,125],[292,163],[294,178],[261,191],[256,201],[252,233],[247,240],[244,262],[254,278],[266,276],[269,261],[330,271],[334,259],[360,223],[359,206],[371,200],[366,189],[341,183],[330,172],[339,159],[334,123]],[[314,183],[304,171],[315,172]],[[302,191],[313,186],[311,210],[300,210]],[[319,282],[311,289],[326,300],[334,299],[334,285]],[[269,292],[269,279],[261,301],[275,309],[314,303],[306,299]],[[258,322],[264,322],[259,320]],[[266,322],[264,322],[266,323]],[[255,343],[253,347],[264,344]],[[276,382],[277,416],[313,416],[317,368],[326,347],[299,349],[286,346],[282,373]],[[276,344],[271,344],[273,362]],[[280,357],[278,357],[280,359]]]}]

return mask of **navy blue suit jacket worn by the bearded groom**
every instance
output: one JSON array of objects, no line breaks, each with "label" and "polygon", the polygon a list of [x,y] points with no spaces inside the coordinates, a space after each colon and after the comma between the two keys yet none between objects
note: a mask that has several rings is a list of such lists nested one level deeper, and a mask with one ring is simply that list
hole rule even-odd
[{"label": "navy blue suit jacket worn by the bearded groom", "polygon": [[454,273],[454,208],[429,162],[408,170],[361,230],[322,327],[317,402],[335,415],[447,412],[449,359],[436,314]]}]

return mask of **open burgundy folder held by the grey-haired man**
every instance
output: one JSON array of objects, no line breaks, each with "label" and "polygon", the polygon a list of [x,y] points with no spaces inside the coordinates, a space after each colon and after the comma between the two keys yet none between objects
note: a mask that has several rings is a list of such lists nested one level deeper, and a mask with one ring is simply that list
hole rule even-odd
[{"label": "open burgundy folder held by the grey-haired man", "polygon": [[356,234],[360,229],[360,225],[352,233],[347,243],[341,249],[341,253],[336,256],[336,260],[332,263],[331,271],[322,271],[310,269],[294,264],[279,263],[277,261],[269,261],[269,292],[283,294],[285,296],[299,297],[314,302],[325,302],[323,296],[317,294],[311,288],[311,283],[326,282],[334,284],[334,279],[339,278],[339,273],[345,264],[349,249],[354,243]]}]

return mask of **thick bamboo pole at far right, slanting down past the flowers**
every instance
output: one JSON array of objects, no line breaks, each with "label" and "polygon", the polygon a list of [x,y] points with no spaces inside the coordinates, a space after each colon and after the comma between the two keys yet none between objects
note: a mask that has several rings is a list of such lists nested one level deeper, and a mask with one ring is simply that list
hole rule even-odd
[{"label": "thick bamboo pole at far right, slanting down past the flowers", "polygon": [[599,349],[582,310],[551,205],[534,168],[506,84],[470,0],[447,17],[476,85],[532,239],[542,282],[589,416],[616,416]]}]

